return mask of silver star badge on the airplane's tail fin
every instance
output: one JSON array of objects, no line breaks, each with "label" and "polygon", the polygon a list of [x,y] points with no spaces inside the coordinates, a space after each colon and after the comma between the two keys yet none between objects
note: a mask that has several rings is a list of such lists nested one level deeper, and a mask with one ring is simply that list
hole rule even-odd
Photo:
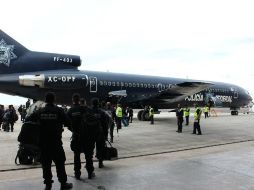
[{"label": "silver star badge on the airplane's tail fin", "polygon": [[0,41],[0,64],[10,66],[11,60],[17,58],[13,50],[14,45],[7,45],[3,39]]}]

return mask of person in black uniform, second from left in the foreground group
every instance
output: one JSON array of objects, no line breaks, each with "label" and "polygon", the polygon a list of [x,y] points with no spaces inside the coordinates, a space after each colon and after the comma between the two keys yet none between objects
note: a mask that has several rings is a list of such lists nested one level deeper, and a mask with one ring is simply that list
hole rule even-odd
[{"label": "person in black uniform, second from left in the foreground group", "polygon": [[[81,175],[81,161],[80,154],[85,153],[86,158],[86,169],[88,172],[88,178],[91,179],[94,176],[93,167],[93,150],[94,142],[88,141],[88,136],[92,136],[86,130],[84,120],[82,118],[83,114],[87,113],[89,109],[87,106],[80,104],[80,95],[74,94],[72,96],[73,105],[68,110],[67,114],[72,121],[72,142],[71,149],[74,152],[74,174],[76,179],[80,179]],[[95,138],[95,137],[94,137]]]}]

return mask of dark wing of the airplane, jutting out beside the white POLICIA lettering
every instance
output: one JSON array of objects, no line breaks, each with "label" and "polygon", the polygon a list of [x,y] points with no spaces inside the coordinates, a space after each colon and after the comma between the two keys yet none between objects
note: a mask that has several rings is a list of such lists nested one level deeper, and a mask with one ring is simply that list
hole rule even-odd
[{"label": "dark wing of the airplane, jutting out beside the white POLICIA lettering", "polygon": [[185,99],[187,96],[198,93],[213,85],[209,82],[182,82],[170,85],[169,88],[160,91],[157,98],[167,102],[177,102]]}]

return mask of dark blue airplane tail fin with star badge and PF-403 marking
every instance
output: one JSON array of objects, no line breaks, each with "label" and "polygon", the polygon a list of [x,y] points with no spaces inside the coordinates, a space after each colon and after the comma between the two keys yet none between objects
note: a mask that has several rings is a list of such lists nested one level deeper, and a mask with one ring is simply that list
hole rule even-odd
[{"label": "dark blue airplane tail fin with star badge and PF-403 marking", "polygon": [[30,51],[0,30],[0,74],[76,69],[80,65],[79,56]]}]

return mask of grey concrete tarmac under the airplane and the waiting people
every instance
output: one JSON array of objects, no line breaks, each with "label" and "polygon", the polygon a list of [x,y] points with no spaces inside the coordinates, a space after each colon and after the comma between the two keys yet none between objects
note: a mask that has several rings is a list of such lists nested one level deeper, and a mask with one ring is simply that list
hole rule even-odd
[{"label": "grey concrete tarmac under the airplane and the waiting people", "polygon": [[[119,159],[105,161],[96,177],[87,178],[82,170],[81,180],[74,178],[71,133],[63,133],[68,182],[73,189],[87,190],[254,190],[254,114],[201,119],[203,135],[193,135],[193,117],[183,133],[176,133],[175,113],[155,115],[155,124],[134,119],[129,127],[116,133],[113,146]],[[0,131],[0,190],[43,189],[40,165],[15,165],[17,136],[21,122],[14,132]],[[84,156],[82,157],[84,160]],[[84,166],[84,163],[83,163]],[[54,184],[60,189],[55,167]]]}]

